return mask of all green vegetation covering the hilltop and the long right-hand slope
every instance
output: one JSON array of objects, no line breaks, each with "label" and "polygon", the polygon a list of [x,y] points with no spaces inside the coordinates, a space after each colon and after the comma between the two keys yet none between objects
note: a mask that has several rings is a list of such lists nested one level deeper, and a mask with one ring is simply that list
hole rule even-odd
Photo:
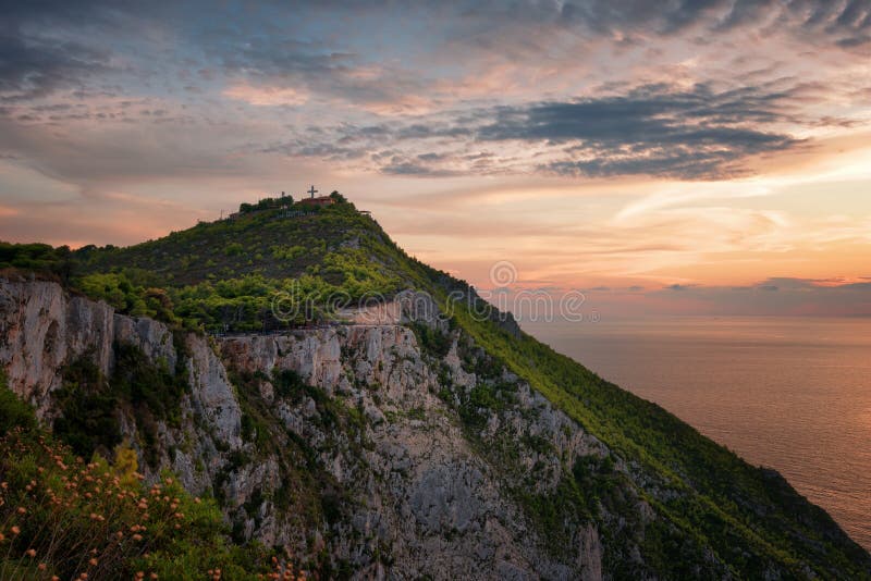
[{"label": "all green vegetation covering the hilltop and the long right-hand slope", "polygon": [[[640,545],[649,573],[698,577],[706,563],[716,560],[736,578],[764,578],[772,564],[797,579],[871,578],[869,554],[776,472],[749,466],[659,406],[508,329],[498,313],[486,321],[473,317],[480,299],[467,284],[408,257],[353,205],[340,200],[307,212],[252,211],[128,248],[69,254],[5,245],[0,265],[41,269],[123,312],[200,330],[329,320],[346,300],[425,290],[452,313],[452,329],[482,347],[496,368],[525,379],[612,450],[608,465],[572,467],[574,478],[561,483],[556,495],[524,497],[554,546],[565,541],[566,512],[591,519],[603,531],[609,571],[617,578],[638,574],[616,549],[609,553],[635,534],[637,510],[628,502],[635,496],[661,517],[648,526]],[[317,311],[277,321],[271,314],[277,293],[310,300]],[[457,296],[465,300],[454,300]],[[440,348],[439,337],[420,333],[425,347]],[[473,442],[476,409],[500,405],[492,390],[476,388],[456,404]],[[510,450],[480,453],[495,461],[510,456]],[[625,467],[631,481],[615,465]],[[601,506],[625,514],[626,522],[602,520]]]}]

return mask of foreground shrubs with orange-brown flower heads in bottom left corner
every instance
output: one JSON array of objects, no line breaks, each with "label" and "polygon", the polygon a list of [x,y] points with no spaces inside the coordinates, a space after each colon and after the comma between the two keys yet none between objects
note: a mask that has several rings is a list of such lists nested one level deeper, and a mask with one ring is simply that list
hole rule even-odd
[{"label": "foreground shrubs with orange-brown flower heads in bottom left corner", "polygon": [[74,456],[0,385],[0,579],[296,579],[232,544],[213,500],[169,472],[145,484],[128,447],[111,456]]}]

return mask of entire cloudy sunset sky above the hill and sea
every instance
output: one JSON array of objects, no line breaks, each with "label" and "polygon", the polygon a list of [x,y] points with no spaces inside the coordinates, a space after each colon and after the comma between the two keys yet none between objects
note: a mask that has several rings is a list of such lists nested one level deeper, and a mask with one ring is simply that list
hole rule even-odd
[{"label": "entire cloudy sunset sky above the hill and sea", "polygon": [[0,4],[0,239],[315,184],[482,290],[871,314],[869,0]]}]

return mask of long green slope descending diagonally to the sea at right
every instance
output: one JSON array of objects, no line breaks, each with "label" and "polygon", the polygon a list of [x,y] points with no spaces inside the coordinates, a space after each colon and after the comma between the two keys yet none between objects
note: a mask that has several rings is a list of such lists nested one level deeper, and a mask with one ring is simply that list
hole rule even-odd
[{"label": "long green slope descending diagonally to the sea at right", "polygon": [[[527,335],[515,337],[462,308],[454,312],[477,345],[496,354],[633,470],[648,474],[660,490],[637,491],[641,497],[684,536],[714,551],[736,576],[761,578],[776,563],[799,579],[810,574],[806,564],[823,578],[870,577],[868,553],[776,472],[749,466],[661,407]],[[652,536],[642,547],[648,563],[667,570],[686,560],[680,546],[657,541]]]}]

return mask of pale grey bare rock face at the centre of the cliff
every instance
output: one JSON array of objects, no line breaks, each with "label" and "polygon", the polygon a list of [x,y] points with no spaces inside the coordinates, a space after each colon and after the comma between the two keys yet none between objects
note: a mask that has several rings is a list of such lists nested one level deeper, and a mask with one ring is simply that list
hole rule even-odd
[{"label": "pale grey bare rock face at the centre of the cliff", "polygon": [[[437,395],[442,386],[409,329],[352,326],[235,337],[222,342],[222,354],[248,372],[293,370],[363,410],[371,448],[361,458],[333,444],[319,452],[336,481],[366,498],[366,506],[348,516],[351,528],[390,555],[393,574],[528,579],[547,572],[573,578],[584,568],[601,569],[588,563],[600,558],[592,549],[579,557],[581,566],[549,555],[523,509],[506,496],[503,474],[480,458]],[[530,407],[541,405],[528,388],[526,396]],[[280,413],[298,436],[329,441],[305,407],[281,407]],[[540,425],[526,428],[563,437],[563,419],[543,416]],[[359,547],[336,547],[338,554],[345,552],[369,573],[379,570]]]}]

